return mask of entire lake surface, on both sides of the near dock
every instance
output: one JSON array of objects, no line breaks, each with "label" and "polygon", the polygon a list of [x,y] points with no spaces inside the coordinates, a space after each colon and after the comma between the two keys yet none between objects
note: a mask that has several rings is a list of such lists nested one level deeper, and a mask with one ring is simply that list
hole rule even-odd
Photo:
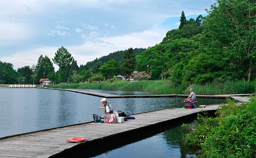
[{"label": "entire lake surface, on both sides of the near dock", "polygon": [[[86,91],[118,95],[154,94],[107,90]],[[98,109],[98,106],[102,106],[100,100],[100,97],[70,91],[41,88],[0,88],[0,137],[86,122],[81,120],[91,121],[92,114],[102,115],[104,113],[104,110]],[[182,107],[183,103],[176,103],[183,100],[184,98],[111,98],[108,99],[108,102],[112,104],[115,111],[120,110],[126,114],[134,114],[163,108]],[[201,105],[226,102],[224,99],[208,98],[198,98],[197,101]],[[152,154],[155,156],[157,153],[162,153],[161,157],[167,157],[170,154],[182,155],[182,144],[174,143],[181,142],[181,138],[178,138],[173,132],[181,134],[179,130],[167,130],[150,138],[108,151],[106,152],[107,156],[102,154],[97,157],[110,157],[111,155],[118,157],[118,153],[124,151],[127,155],[130,154],[127,157],[131,157],[134,153],[140,157],[152,157],[145,155],[145,153],[152,154],[152,151],[155,151],[155,154]],[[147,145],[149,143],[152,145]],[[143,146],[147,146],[147,151],[142,150]],[[134,153],[131,153],[132,151]],[[184,151],[186,151],[185,155],[195,156],[189,154],[190,149]]]}]

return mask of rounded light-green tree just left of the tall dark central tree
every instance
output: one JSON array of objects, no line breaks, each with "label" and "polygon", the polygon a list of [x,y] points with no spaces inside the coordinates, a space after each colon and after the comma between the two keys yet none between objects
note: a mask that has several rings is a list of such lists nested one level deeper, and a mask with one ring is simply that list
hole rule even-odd
[{"label": "rounded light-green tree just left of the tall dark central tree", "polygon": [[114,59],[111,59],[107,63],[102,65],[102,67],[99,68],[99,70],[101,71],[101,74],[105,78],[112,78],[112,77],[114,77],[114,75],[118,75],[118,73],[120,71],[119,65],[118,65],[117,61]]}]

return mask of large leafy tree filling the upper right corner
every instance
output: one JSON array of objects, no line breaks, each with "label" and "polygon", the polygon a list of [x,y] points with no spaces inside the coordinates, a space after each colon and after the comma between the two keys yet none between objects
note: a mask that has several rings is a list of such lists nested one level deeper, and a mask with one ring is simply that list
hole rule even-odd
[{"label": "large leafy tree filling the upper right corner", "polygon": [[256,56],[256,1],[218,0],[211,5],[205,33],[223,48],[233,78],[250,81]]}]

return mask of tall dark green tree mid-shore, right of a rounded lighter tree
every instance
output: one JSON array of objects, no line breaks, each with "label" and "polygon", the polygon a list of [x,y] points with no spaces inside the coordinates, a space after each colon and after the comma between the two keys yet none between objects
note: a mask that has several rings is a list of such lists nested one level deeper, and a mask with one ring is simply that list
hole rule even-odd
[{"label": "tall dark green tree mid-shore, right of a rounded lighter tree", "polygon": [[136,67],[136,59],[135,54],[133,53],[132,48],[129,48],[124,52],[123,60],[120,64],[120,69],[124,73],[124,75],[130,76]]}]

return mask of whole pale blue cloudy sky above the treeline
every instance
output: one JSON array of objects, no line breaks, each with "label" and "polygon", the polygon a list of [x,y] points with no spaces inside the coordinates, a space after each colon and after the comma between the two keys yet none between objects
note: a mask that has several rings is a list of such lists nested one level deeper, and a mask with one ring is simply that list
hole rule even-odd
[{"label": "whole pale blue cloudy sky above the treeline", "polygon": [[[118,50],[148,48],[216,0],[0,0],[0,61],[13,68],[53,58],[64,46],[78,65]],[[55,70],[58,66],[54,64]]]}]

